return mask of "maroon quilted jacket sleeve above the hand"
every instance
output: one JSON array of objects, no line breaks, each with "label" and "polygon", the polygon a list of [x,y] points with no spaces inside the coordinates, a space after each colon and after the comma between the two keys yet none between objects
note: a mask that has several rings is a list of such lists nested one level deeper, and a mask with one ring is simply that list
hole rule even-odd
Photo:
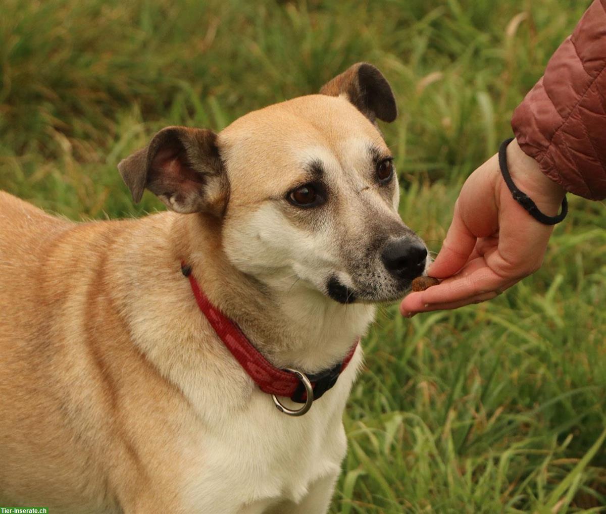
[{"label": "maroon quilted jacket sleeve above the hand", "polygon": [[606,198],[606,0],[594,0],[516,108],[525,153],[575,195]]}]

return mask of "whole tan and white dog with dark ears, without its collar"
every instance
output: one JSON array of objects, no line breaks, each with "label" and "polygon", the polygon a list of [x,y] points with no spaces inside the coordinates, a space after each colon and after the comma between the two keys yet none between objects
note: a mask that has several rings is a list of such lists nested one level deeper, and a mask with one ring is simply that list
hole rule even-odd
[{"label": "whole tan and white dog with dark ears, without its collar", "polygon": [[287,416],[211,328],[181,262],[277,368],[342,361],[373,304],[427,262],[375,124],[395,118],[384,76],[356,64],[319,95],[219,134],[168,127],[122,161],[135,201],[147,188],[170,212],[76,224],[0,193],[0,505],[326,512],[362,350]]}]

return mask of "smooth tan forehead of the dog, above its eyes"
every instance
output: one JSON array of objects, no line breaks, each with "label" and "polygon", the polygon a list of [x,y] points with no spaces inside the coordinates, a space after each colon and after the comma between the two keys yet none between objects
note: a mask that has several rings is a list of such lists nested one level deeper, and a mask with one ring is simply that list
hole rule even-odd
[{"label": "smooth tan forehead of the dog, above its eyes", "polygon": [[385,149],[379,130],[345,98],[301,96],[237,119],[219,134],[219,148],[233,189],[239,185],[281,194],[304,166],[332,169]]}]

